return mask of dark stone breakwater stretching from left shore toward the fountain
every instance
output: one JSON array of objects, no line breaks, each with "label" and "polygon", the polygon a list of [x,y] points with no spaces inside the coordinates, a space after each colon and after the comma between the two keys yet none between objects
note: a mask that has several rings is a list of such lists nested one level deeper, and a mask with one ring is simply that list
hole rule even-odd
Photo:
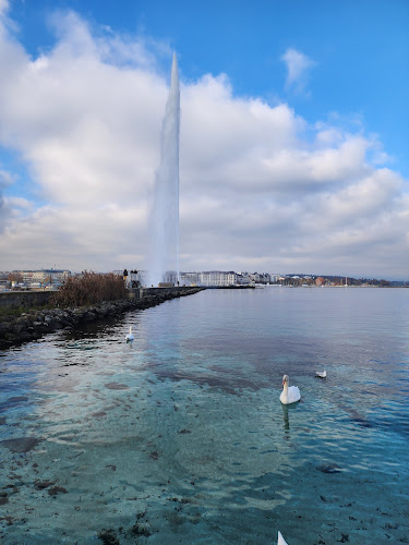
[{"label": "dark stone breakwater stretching from left shore toward the fountain", "polygon": [[33,310],[20,316],[0,315],[0,349],[36,340],[59,329],[72,329],[86,322],[112,318],[128,311],[156,306],[171,299],[191,295],[202,289],[149,289],[139,299],[106,301],[92,306]]}]

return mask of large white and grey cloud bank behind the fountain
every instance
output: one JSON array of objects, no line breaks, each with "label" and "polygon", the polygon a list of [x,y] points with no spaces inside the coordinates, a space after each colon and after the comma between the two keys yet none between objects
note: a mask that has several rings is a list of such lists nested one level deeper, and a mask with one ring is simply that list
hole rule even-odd
[{"label": "large white and grey cloud bank behind the fountain", "polygon": [[[47,203],[0,175],[2,268],[140,268],[168,74],[139,38],[72,12],[52,24],[37,59],[0,32],[0,145]],[[296,86],[312,61],[287,53]],[[309,126],[222,74],[182,85],[181,108],[182,269],[408,276],[408,197],[361,125]]]}]

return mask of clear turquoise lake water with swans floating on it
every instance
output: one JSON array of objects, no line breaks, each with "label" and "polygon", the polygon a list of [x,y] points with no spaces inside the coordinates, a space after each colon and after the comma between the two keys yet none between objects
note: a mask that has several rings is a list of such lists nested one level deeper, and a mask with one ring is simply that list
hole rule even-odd
[{"label": "clear turquoise lake water with swans floating on it", "polygon": [[409,543],[408,378],[406,289],[206,290],[0,352],[0,542]]}]

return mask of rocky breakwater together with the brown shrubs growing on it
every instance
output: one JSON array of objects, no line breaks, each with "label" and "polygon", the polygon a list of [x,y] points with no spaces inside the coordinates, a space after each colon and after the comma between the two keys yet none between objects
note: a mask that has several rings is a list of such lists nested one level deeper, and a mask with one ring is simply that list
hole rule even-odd
[{"label": "rocky breakwater together with the brown shrubs growing on it", "polygon": [[119,275],[84,272],[82,277],[70,278],[52,293],[45,306],[0,308],[0,350],[37,340],[57,330],[71,330],[87,322],[149,308],[202,289],[159,288],[154,294],[131,299],[132,291],[127,290]]}]

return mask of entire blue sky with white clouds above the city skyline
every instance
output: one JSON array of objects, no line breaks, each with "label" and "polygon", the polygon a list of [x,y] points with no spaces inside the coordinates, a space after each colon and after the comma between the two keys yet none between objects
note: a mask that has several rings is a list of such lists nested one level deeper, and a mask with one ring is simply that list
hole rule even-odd
[{"label": "entire blue sky with white clouds above the city skyline", "polygon": [[146,266],[173,51],[181,270],[409,279],[407,0],[0,0],[0,270]]}]

